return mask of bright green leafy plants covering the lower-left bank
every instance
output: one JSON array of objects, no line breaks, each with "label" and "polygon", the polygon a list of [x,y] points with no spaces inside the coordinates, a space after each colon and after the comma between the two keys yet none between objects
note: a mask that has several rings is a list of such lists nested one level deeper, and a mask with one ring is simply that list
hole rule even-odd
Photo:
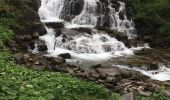
[{"label": "bright green leafy plants covering the lower-left bank", "polygon": [[8,51],[0,52],[0,99],[16,100],[80,100],[108,99],[108,91],[94,83],[69,75],[38,72],[12,62]]}]

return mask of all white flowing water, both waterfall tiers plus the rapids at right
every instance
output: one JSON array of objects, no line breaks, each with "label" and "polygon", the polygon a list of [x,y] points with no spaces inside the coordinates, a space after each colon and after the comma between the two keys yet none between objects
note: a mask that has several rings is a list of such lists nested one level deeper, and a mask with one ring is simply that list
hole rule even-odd
[{"label": "all white flowing water, both waterfall tiers plus the rapids at right", "polygon": [[[68,62],[101,62],[112,57],[133,55],[135,48],[127,48],[123,42],[110,37],[104,31],[95,27],[106,27],[122,32],[130,38],[136,37],[135,25],[132,18],[128,18],[126,4],[112,0],[41,0],[39,16],[44,23],[64,23],[66,29],[90,28],[91,34],[80,32],[76,35],[55,36],[55,29],[48,28],[47,34],[41,36],[48,46],[48,56],[57,57],[62,53],[69,53],[72,60]],[[118,66],[118,65],[117,65]],[[165,66],[157,71],[145,71],[118,66],[141,73],[156,80],[170,80],[170,69]],[[156,73],[158,72],[158,73]]]}]

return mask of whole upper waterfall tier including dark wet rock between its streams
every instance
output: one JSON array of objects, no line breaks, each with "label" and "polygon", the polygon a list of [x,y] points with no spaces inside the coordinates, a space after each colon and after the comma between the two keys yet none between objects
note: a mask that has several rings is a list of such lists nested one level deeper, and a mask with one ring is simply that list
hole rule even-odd
[{"label": "whole upper waterfall tier including dark wet rock between its streams", "polygon": [[132,19],[127,18],[126,5],[120,1],[113,4],[111,0],[42,0],[39,15],[43,20],[60,19],[69,21],[69,25],[106,27],[129,37],[136,35]]}]

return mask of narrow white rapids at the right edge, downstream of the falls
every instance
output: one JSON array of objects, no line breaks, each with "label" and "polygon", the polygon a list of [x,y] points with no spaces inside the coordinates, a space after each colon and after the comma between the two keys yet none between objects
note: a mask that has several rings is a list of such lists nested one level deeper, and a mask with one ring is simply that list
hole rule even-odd
[{"label": "narrow white rapids at the right edge, downstream of the falls", "polygon": [[159,81],[168,81],[170,80],[170,68],[165,67],[165,65],[159,65],[158,70],[152,70],[152,71],[147,71],[144,69],[139,69],[139,68],[130,68],[125,65],[113,65],[115,67],[121,68],[121,69],[127,69],[127,70],[132,70],[132,71],[138,71],[141,72],[142,74],[149,76],[151,79],[154,80],[159,80]]}]

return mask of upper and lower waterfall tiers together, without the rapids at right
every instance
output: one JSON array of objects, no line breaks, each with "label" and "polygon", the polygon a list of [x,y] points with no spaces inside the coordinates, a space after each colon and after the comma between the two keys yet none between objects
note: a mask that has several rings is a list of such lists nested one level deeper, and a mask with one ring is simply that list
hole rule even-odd
[{"label": "upper and lower waterfall tiers together, without the rapids at right", "polygon": [[[117,4],[119,6],[116,12],[116,8],[113,7],[111,0],[42,0],[39,15],[41,20],[47,23],[49,21],[56,22],[59,19],[65,21],[69,19],[72,26],[75,24],[100,27],[110,26],[109,28],[111,29],[128,34],[127,31],[129,31],[130,27],[133,27],[132,21],[127,20],[125,3],[117,2]],[[120,13],[122,13],[124,19],[120,18]],[[71,19],[68,17],[71,17]],[[105,32],[93,29],[91,35],[79,33],[81,35],[77,34],[67,38],[63,34],[55,37],[55,30],[48,27],[46,29],[48,34],[40,37],[40,39],[46,41],[49,53],[64,49],[63,51],[74,54],[109,53],[110,55],[119,56],[124,53],[132,54],[132,51],[126,48],[124,43],[110,37]]]}]

